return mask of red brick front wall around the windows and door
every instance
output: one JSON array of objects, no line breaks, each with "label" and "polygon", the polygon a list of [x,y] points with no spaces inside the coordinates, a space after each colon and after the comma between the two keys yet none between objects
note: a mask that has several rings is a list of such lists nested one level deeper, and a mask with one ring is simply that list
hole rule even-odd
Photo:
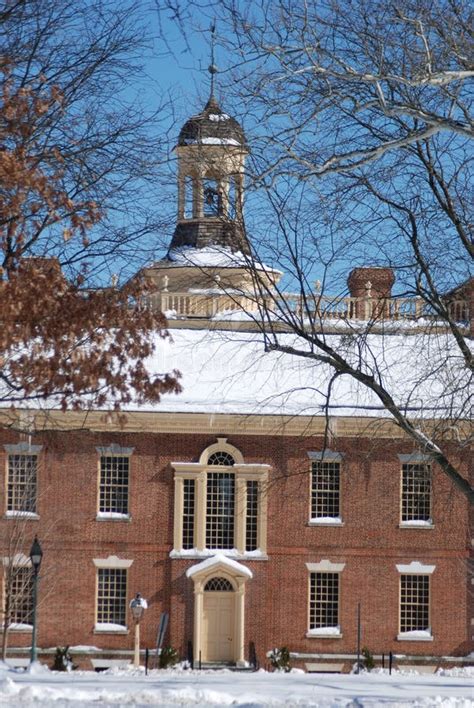
[{"label": "red brick front wall around the windows and door", "polygon": [[[37,439],[38,438],[38,439]],[[434,528],[399,528],[400,462],[409,443],[340,438],[333,449],[344,454],[340,527],[314,527],[309,519],[308,450],[321,450],[320,438],[231,436],[245,462],[272,466],[268,503],[268,561],[243,561],[254,577],[247,582],[246,654],[256,644],[264,662],[274,646],[291,651],[347,653],[356,648],[357,603],[362,607],[362,642],[373,652],[465,655],[471,648],[467,580],[467,504],[439,470],[434,470]],[[35,436],[43,445],[39,466],[38,521],[27,521],[24,552],[38,533],[44,550],[38,613],[38,644],[94,645],[132,649],[133,633],[94,634],[96,568],[93,558],[132,559],[128,596],[149,601],[142,624],[142,646],[155,645],[160,613],[170,613],[168,641],[182,655],[193,639],[193,583],[186,568],[198,560],[170,560],[173,547],[173,472],[170,462],[197,461],[216,438],[71,432]],[[5,431],[3,444],[18,436]],[[96,446],[134,447],[131,462],[130,521],[97,521]],[[467,469],[467,458],[461,466]],[[5,485],[0,509],[5,510]],[[0,521],[6,541],[12,521]],[[308,629],[306,563],[328,559],[345,563],[341,575],[340,639],[305,636]],[[432,642],[399,642],[397,563],[436,565],[432,575]],[[10,645],[28,646],[30,634],[12,633]]]}]

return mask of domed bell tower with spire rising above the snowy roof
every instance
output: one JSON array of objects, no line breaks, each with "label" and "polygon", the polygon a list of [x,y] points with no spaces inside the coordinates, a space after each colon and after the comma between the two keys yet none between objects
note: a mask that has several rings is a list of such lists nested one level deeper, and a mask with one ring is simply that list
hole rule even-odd
[{"label": "domed bell tower with spire rising above the snowy roof", "polygon": [[168,319],[210,318],[223,311],[258,309],[255,269],[268,287],[281,273],[253,257],[243,220],[247,140],[239,123],[214,96],[214,48],[210,96],[181,128],[177,220],[168,252],[142,271],[152,284],[153,307]]}]

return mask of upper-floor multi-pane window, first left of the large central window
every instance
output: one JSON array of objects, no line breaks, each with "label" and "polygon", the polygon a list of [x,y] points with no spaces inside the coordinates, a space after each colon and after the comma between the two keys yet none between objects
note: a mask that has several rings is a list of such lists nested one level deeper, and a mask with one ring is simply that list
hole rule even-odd
[{"label": "upper-floor multi-pane window, first left of the large central window", "polygon": [[128,514],[130,457],[103,455],[100,458],[99,511]]}]

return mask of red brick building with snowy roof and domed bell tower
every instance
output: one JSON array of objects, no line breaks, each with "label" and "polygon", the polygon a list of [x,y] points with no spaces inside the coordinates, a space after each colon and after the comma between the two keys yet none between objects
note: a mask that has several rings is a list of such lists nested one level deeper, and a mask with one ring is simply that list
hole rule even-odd
[{"label": "red brick building with snowy roof and domed bell tower", "polygon": [[[462,662],[474,617],[466,499],[353,381],[335,383],[325,412],[327,368],[263,352],[240,218],[240,126],[211,98],[177,151],[176,232],[145,272],[173,336],[153,365],[180,369],[184,392],[131,406],[125,421],[104,411],[2,414],[10,655],[25,657],[31,644],[27,555],[37,534],[42,659],[71,645],[85,665],[128,661],[129,602],[140,592],[142,647],[156,646],[168,613],[165,643],[204,663],[265,664],[287,646],[301,666],[348,667],[359,608],[372,653]],[[392,284],[390,271],[353,271],[338,321],[404,321]],[[334,309],[322,298],[317,307],[327,336],[340,337]],[[422,367],[413,327],[370,335],[407,385]],[[429,378],[423,391],[428,400]],[[447,446],[472,474],[469,449]]]}]

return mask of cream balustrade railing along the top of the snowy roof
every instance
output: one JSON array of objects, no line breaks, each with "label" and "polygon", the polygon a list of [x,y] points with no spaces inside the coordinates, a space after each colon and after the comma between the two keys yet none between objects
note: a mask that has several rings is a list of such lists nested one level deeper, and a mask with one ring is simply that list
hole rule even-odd
[{"label": "cream balustrade railing along the top of the snowy roof", "polygon": [[[417,297],[413,298],[374,298],[374,297],[331,297],[310,294],[285,293],[274,298],[266,296],[265,301],[246,293],[197,293],[160,291],[149,295],[146,304],[152,309],[164,312],[168,319],[225,319],[236,313],[248,313],[256,316],[259,311],[270,314],[272,319],[284,319],[292,313],[301,320],[407,320],[420,318],[436,319],[427,304]],[[464,300],[453,301],[448,305],[451,317],[457,322],[468,322],[469,308]]]}]

